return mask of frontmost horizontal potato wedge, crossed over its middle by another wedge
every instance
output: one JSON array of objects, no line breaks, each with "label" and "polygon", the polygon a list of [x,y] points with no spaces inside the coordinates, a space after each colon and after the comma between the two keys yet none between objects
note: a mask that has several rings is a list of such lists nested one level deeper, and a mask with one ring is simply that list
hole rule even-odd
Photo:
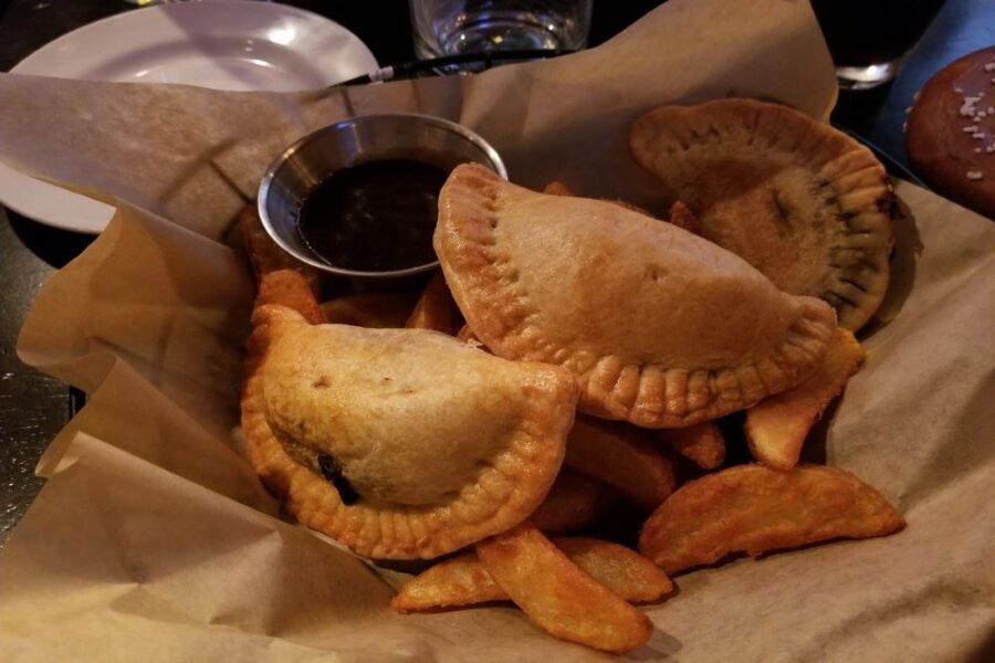
[{"label": "frontmost horizontal potato wedge, crossed over its middle by another wedge", "polygon": [[[632,603],[657,601],[673,583],[650,560],[625,546],[585,537],[558,537],[553,545],[591,578]],[[507,601],[475,552],[464,552],[408,580],[390,607],[398,612]]]}]

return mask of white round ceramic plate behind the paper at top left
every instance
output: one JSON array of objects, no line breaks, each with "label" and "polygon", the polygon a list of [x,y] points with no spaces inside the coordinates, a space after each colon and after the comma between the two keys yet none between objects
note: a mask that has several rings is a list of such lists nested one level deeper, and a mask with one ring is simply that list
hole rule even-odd
[{"label": "white round ceramic plate behind the paper at top left", "polygon": [[[359,39],[317,14],[269,2],[161,4],[84,25],[11,72],[87,81],[184,83],[216,90],[325,87],[377,69]],[[56,228],[98,233],[114,208],[0,162],[0,201]]]}]

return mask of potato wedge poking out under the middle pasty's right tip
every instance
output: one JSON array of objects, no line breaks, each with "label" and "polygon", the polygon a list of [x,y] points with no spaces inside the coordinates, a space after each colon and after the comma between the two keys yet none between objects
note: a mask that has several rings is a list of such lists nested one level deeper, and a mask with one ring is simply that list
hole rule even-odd
[{"label": "potato wedge poking out under the middle pasty's right tip", "polygon": [[746,410],[746,441],[757,461],[775,470],[798,463],[808,431],[863,362],[863,348],[840,327],[823,366],[807,380]]}]

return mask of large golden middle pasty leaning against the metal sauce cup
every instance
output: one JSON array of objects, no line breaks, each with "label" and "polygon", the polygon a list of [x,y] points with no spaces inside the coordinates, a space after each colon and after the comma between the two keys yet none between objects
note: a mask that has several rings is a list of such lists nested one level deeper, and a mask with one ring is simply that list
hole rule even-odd
[{"label": "large golden middle pasty leaning against the metal sauce cup", "polygon": [[784,391],[836,328],[825,302],[680,228],[482,166],[450,175],[433,241],[481,343],[568,368],[580,410],[637,425],[684,427]]}]

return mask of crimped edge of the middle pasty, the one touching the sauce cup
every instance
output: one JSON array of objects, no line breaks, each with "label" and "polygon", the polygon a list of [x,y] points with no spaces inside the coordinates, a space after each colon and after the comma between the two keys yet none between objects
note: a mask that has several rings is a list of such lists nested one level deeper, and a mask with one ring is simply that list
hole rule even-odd
[{"label": "crimped edge of the middle pasty, the one touching the sauce cup", "polygon": [[[804,367],[814,367],[825,355],[836,320],[831,309],[811,297],[795,298],[800,315],[775,352],[742,367],[635,367],[615,355],[558,347],[532,324],[537,312],[514,266],[496,250],[493,231],[501,181],[493,171],[472,164],[453,172],[440,199],[436,252],[454,299],[480,339],[509,359],[568,368],[580,386],[582,412],[645,428],[683,428],[794,387],[811,372]],[[462,219],[460,228],[454,214]],[[485,305],[474,306],[471,297]]]}]

